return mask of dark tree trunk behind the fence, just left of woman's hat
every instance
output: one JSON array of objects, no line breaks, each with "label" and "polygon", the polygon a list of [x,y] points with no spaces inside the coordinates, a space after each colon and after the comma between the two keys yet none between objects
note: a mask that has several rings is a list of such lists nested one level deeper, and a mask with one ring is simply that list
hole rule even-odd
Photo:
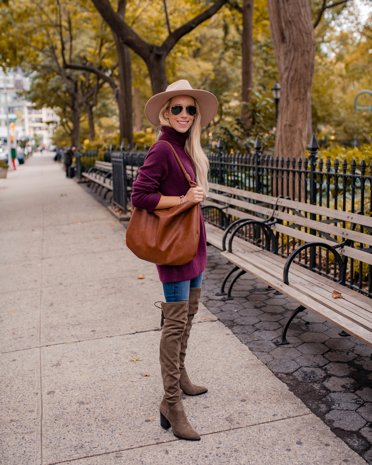
[{"label": "dark tree trunk behind the fence, just left of woman's hat", "polygon": [[132,74],[131,53],[125,44],[113,33],[116,50],[118,52],[119,86],[116,92],[116,100],[119,108],[120,141],[125,139],[133,146],[132,123]]}]

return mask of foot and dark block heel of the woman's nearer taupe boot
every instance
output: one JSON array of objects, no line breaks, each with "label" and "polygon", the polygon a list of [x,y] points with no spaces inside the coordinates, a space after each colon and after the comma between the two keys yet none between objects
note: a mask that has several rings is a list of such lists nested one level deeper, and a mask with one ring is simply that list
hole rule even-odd
[{"label": "foot and dark block heel of the woman's nearer taupe boot", "polygon": [[200,440],[199,433],[194,430],[186,417],[182,401],[179,401],[171,408],[166,407],[164,399],[161,401],[160,425],[163,426],[163,428],[169,428],[169,426],[172,426],[173,434],[178,438],[186,439],[188,441]]}]

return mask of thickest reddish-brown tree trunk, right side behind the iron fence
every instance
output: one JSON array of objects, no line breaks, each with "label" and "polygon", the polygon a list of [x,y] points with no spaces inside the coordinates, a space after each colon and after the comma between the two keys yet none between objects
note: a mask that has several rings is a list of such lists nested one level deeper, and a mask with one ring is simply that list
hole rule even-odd
[{"label": "thickest reddish-brown tree trunk, right side behind the iron fence", "polygon": [[309,0],[267,0],[280,76],[275,155],[304,157],[315,59]]}]

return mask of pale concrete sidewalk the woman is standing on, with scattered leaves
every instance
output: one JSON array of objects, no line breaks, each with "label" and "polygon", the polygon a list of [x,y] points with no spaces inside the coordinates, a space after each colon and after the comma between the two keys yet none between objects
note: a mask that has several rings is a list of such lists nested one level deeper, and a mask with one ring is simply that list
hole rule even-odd
[{"label": "pale concrete sidewalk the woman is standing on, with scattered leaves", "polygon": [[1,464],[365,464],[205,307],[186,362],[209,391],[183,396],[201,440],[177,439],[162,286],[124,226],[46,157],[0,179],[0,218]]}]

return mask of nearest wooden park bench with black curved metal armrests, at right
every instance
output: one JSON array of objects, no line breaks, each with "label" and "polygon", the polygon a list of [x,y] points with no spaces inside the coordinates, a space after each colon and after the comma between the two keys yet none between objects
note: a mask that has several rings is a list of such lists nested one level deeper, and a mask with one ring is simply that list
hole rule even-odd
[{"label": "nearest wooden park bench with black curved metal armrests, at right", "polygon": [[[243,198],[252,196],[236,188],[213,188],[224,188],[225,192]],[[233,200],[236,204],[236,199],[228,202],[233,204]],[[372,218],[283,198],[272,198],[272,206],[266,215],[269,221],[256,218],[239,222],[230,234],[228,250],[221,255],[235,265],[234,270],[241,270],[239,275],[249,272],[298,302],[299,307],[287,320],[277,344],[288,344],[286,332],[292,319],[307,308],[338,326],[343,330],[341,335],[352,334],[372,346],[372,300],[345,286],[350,258],[369,265],[371,287],[372,235],[363,231],[372,232]],[[246,209],[254,211],[251,204]],[[251,236],[253,232],[254,244],[244,239],[244,228]],[[354,243],[359,244],[358,248],[353,247]],[[287,259],[280,256],[284,255],[284,248],[287,253],[292,251]],[[337,282],[330,279],[330,273]],[[231,290],[232,286],[228,297]],[[339,298],[334,298],[337,295]]]}]

